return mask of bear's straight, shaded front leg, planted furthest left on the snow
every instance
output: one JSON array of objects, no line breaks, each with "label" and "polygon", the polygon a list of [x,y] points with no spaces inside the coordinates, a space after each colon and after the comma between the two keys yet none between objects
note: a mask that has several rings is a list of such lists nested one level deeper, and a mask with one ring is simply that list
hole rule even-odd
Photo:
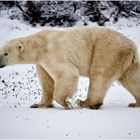
[{"label": "bear's straight, shaded front leg, planted furthest left on the snow", "polygon": [[36,65],[36,71],[41,84],[42,99],[38,104],[33,104],[31,108],[52,107],[54,81],[39,64]]}]

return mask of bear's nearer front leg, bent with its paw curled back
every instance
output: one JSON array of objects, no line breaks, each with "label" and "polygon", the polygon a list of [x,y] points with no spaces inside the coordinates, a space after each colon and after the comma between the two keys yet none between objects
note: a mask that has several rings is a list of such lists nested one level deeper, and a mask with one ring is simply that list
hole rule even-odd
[{"label": "bear's nearer front leg, bent with its paw curled back", "polygon": [[72,109],[72,105],[68,102],[76,91],[79,73],[77,69],[65,70],[55,83],[54,100],[62,105],[65,109]]}]

